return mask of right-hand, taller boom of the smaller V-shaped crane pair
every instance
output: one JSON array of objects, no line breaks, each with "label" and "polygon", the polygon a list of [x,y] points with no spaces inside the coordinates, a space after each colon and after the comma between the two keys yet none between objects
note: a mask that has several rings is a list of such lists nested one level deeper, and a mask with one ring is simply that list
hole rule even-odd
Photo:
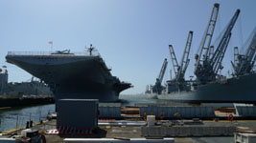
[{"label": "right-hand, taller boom of the smaller V-shaped crane pair", "polygon": [[176,76],[177,81],[184,80],[184,75],[190,62],[189,52],[191,49],[192,39],[193,39],[193,31],[189,31],[187,42],[185,45],[185,50],[181,58],[180,68],[178,69],[177,76]]}]

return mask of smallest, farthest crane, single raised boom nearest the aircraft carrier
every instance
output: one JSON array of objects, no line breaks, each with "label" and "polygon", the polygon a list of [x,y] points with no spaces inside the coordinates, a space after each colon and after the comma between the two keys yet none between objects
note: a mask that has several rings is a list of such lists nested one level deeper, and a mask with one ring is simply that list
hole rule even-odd
[{"label": "smallest, farthest crane, single raised boom nearest the aircraft carrier", "polygon": [[152,92],[156,92],[156,93],[160,94],[163,91],[164,87],[161,84],[162,84],[162,81],[163,81],[163,78],[164,78],[164,74],[165,74],[165,71],[166,71],[166,68],[167,68],[167,64],[168,64],[168,62],[167,62],[167,59],[165,58],[164,62],[163,62],[163,65],[162,65],[162,68],[161,68],[161,71],[160,71],[158,77],[156,78],[155,84],[154,84],[154,86],[151,87]]}]

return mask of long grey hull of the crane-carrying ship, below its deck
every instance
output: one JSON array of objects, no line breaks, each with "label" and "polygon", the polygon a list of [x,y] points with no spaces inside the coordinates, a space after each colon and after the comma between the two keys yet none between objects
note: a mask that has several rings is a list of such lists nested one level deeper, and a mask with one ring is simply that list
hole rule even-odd
[{"label": "long grey hull of the crane-carrying ship, below its deck", "polygon": [[188,103],[256,103],[256,73],[198,86],[192,92],[159,94],[158,99]]}]

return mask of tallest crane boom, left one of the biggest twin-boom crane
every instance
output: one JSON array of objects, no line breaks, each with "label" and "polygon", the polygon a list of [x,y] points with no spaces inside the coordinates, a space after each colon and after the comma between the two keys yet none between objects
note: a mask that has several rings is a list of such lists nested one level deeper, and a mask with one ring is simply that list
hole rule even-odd
[{"label": "tallest crane boom, left one of the biggest twin-boom crane", "polygon": [[[200,43],[199,47],[199,54],[196,55],[196,67],[195,67],[195,73],[198,72],[199,65],[202,65],[203,61],[208,60],[209,58],[209,48],[211,45],[215,25],[217,22],[217,17],[219,13],[220,4],[214,4],[213,10],[211,12],[210,20],[208,22],[208,25],[206,27],[206,30],[204,31],[202,41]],[[201,55],[203,54],[203,57],[201,59]]]}]

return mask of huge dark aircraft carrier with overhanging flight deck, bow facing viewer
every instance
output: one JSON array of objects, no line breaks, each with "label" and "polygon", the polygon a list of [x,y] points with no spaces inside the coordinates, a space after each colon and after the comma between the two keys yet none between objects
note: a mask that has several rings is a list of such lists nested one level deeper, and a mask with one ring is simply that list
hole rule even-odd
[{"label": "huge dark aircraft carrier with overhanging flight deck, bow facing viewer", "polygon": [[92,46],[84,52],[9,51],[7,62],[49,85],[55,100],[99,99],[114,102],[131,84],[112,76],[100,53]]}]

